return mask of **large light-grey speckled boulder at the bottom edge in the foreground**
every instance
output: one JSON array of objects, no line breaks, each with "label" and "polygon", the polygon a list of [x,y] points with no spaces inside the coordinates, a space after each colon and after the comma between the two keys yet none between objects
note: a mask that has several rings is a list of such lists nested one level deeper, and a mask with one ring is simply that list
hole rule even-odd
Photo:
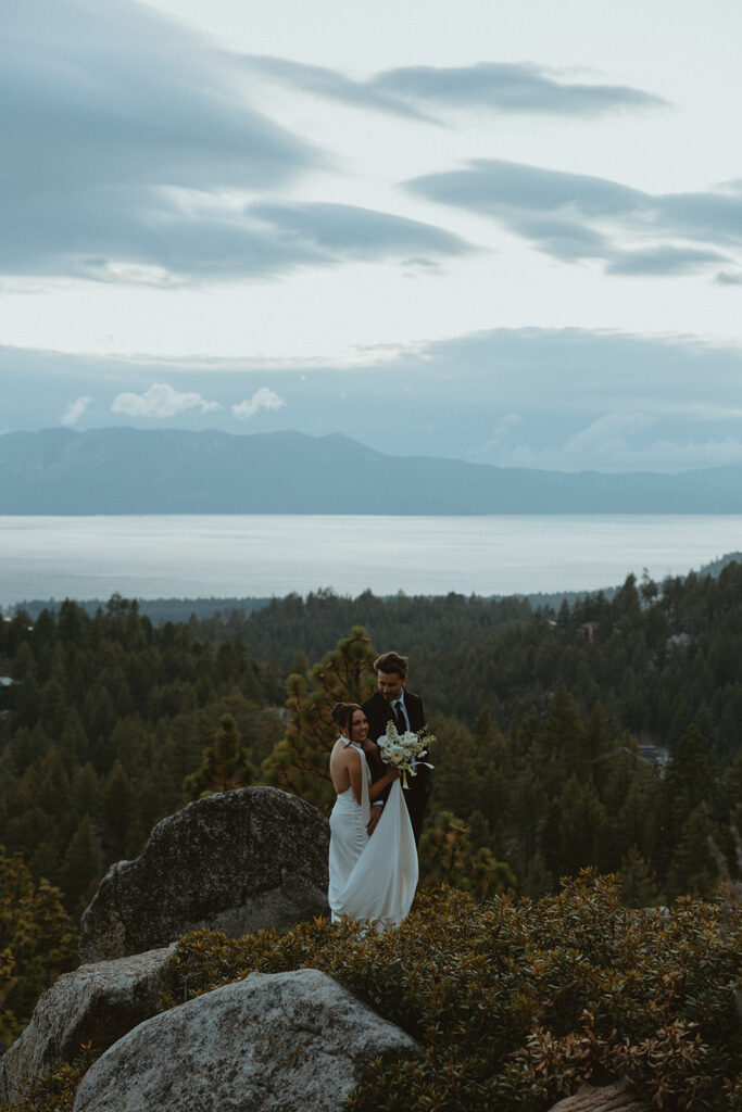
[{"label": "large light-grey speckled boulder at the bottom edge in the foreground", "polygon": [[419,1053],[318,970],[251,973],[121,1039],[73,1112],[339,1112],[372,1059]]}]

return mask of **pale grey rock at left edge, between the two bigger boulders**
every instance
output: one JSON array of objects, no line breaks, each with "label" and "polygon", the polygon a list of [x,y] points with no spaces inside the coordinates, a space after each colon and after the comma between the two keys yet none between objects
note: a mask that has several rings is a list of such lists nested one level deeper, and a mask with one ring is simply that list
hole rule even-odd
[{"label": "pale grey rock at left edge, between the two bigger boulders", "polygon": [[19,1100],[33,1078],[79,1058],[88,1042],[106,1050],[161,1012],[162,993],[176,987],[174,949],[62,974],[39,1000],[20,1039],[0,1058],[0,1101]]}]

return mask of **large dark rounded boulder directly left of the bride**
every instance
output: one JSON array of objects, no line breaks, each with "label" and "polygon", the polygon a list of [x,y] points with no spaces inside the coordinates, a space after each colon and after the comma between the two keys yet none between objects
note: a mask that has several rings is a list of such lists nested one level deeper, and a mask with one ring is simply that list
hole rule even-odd
[{"label": "large dark rounded boulder directly left of the bride", "polygon": [[80,926],[83,961],[209,926],[237,937],[327,913],[327,820],[275,787],[210,795],[164,818],[141,857],[103,877]]}]

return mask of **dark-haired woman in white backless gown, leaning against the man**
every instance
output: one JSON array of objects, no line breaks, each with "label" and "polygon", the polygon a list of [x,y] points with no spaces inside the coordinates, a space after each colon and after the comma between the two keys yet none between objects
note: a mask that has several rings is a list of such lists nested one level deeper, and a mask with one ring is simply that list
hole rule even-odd
[{"label": "dark-haired woman in white backless gown, leaning against the man", "polygon": [[[372,919],[379,930],[402,922],[417,887],[417,850],[399,770],[387,767],[370,784],[364,752],[366,715],[356,703],[339,703],[333,717],[342,736],[329,758],[337,800],[329,817],[329,891],[333,922],[343,915]],[[392,791],[374,834],[366,827],[370,804],[388,785]]]}]

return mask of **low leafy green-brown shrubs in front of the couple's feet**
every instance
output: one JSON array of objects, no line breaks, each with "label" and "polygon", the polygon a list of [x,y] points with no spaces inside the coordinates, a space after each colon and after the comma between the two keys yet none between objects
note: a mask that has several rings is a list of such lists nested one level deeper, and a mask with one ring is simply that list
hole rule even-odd
[{"label": "low leafy green-brown shrubs in front of the couple's feet", "polygon": [[418,1039],[424,1059],[373,1063],[350,1112],[540,1112],[621,1075],[665,1112],[739,1112],[739,906],[728,914],[721,933],[714,903],[631,910],[616,877],[584,871],[538,901],[423,893],[382,935],[323,920],[196,932],[174,961],[187,995],[319,969]]}]

